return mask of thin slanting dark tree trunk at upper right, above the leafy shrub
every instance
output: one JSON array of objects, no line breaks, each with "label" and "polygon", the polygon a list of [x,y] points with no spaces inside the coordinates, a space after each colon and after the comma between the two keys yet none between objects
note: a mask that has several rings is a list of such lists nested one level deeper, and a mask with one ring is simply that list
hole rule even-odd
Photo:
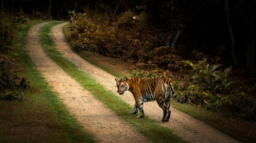
[{"label": "thin slanting dark tree trunk at upper right, above the leafy shrub", "polygon": [[231,50],[232,50],[232,57],[233,57],[233,62],[234,62],[234,67],[237,67],[237,60],[236,60],[236,48],[235,48],[235,39],[233,35],[233,30],[232,26],[230,24],[229,20],[229,0],[225,0],[225,12],[226,12],[226,19],[227,19],[227,24],[229,28],[229,36],[230,36],[230,41],[231,41]]}]

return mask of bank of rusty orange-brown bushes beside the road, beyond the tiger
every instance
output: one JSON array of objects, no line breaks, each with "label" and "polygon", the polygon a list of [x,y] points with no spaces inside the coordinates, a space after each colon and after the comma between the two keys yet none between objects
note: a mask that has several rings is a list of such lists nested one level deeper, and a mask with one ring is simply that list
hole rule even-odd
[{"label": "bank of rusty orange-brown bushes beside the road, beyond the tiger", "polygon": [[130,11],[121,14],[113,23],[109,19],[91,20],[87,14],[82,14],[73,20],[70,27],[78,38],[78,49],[123,58],[144,68],[181,66],[182,58],[176,55],[178,51],[164,46],[164,33],[146,29],[145,20],[145,13],[135,15]]}]

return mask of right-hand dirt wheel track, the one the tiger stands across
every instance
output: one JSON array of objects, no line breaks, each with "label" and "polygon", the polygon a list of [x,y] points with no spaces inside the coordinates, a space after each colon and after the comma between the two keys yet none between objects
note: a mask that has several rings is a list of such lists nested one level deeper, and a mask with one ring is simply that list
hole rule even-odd
[{"label": "right-hand dirt wheel track, the one the tiger stands across", "polygon": [[[78,56],[68,46],[67,41],[63,34],[63,26],[67,23],[56,25],[53,27],[51,35],[54,39],[55,47],[61,52],[61,54],[69,61],[73,62],[78,68],[94,78],[95,81],[102,84],[116,96],[120,96],[116,93],[115,76],[107,73],[106,71],[98,68],[89,62]],[[133,95],[126,92],[121,96],[127,103],[134,106],[135,100]],[[189,115],[179,112],[176,109],[171,109],[171,118],[169,122],[162,123],[162,109],[156,104],[156,102],[148,102],[144,104],[144,112],[150,118],[158,121],[162,126],[172,129],[175,134],[183,139],[193,143],[239,143],[234,138],[223,134],[221,131],[203,123],[202,121],[192,118]]]}]

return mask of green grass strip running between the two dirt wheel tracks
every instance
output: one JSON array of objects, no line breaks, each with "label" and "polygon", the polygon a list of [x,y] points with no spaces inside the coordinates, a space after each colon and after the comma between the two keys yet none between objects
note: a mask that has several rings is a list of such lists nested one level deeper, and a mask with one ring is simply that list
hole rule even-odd
[{"label": "green grass strip running between the two dirt wheel tracks", "polygon": [[[128,114],[132,110],[132,107],[128,103],[121,100],[119,97],[115,96],[113,93],[104,89],[101,85],[96,83],[92,78],[87,74],[79,70],[73,63],[69,62],[67,59],[61,56],[61,53],[55,49],[53,46],[52,37],[47,33],[51,31],[51,28],[54,25],[59,24],[58,22],[52,22],[47,25],[44,25],[41,28],[40,35],[41,40],[40,44],[43,45],[47,56],[52,58],[61,68],[67,72],[68,75],[72,76],[76,81],[78,81],[85,89],[90,91],[101,100],[106,106],[108,106],[112,111],[114,111],[122,119],[126,120],[128,123],[133,124],[135,128],[140,131],[145,137],[152,140],[156,143],[166,143],[166,142],[185,142],[178,137],[168,128],[160,126],[153,119],[148,118],[135,118]],[[148,130],[150,129],[150,130]]]}]

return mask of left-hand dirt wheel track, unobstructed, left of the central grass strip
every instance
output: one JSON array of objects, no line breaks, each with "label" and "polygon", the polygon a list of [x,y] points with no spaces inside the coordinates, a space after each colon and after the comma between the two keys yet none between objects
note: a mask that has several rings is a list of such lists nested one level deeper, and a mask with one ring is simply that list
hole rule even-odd
[{"label": "left-hand dirt wheel track, unobstructed, left of the central grass strip", "polygon": [[99,143],[148,143],[135,128],[111,112],[94,95],[86,91],[77,81],[65,73],[52,59],[47,57],[39,43],[40,28],[35,25],[27,36],[27,51],[35,67],[43,75],[52,90],[58,93],[68,111],[74,115],[84,130]]}]

